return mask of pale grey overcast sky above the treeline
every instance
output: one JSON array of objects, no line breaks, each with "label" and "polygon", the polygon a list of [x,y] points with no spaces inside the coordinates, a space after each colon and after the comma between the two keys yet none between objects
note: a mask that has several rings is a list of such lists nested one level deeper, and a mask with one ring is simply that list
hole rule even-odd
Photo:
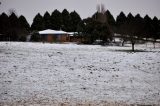
[{"label": "pale grey overcast sky above the treeline", "polygon": [[62,11],[66,8],[69,12],[76,10],[82,18],[87,18],[96,12],[96,5],[103,3],[105,9],[116,17],[121,11],[126,15],[140,13],[141,16],[148,14],[153,18],[160,18],[160,0],[0,0],[0,13],[9,13],[14,9],[17,15],[24,15],[31,24],[33,17],[40,12],[51,13],[55,9]]}]

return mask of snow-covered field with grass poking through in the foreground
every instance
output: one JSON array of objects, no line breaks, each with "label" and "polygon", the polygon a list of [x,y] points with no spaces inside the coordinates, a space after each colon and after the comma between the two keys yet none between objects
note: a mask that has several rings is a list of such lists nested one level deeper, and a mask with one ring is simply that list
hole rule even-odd
[{"label": "snow-covered field with grass poking through in the foreground", "polygon": [[155,104],[160,45],[0,42],[0,105]]}]

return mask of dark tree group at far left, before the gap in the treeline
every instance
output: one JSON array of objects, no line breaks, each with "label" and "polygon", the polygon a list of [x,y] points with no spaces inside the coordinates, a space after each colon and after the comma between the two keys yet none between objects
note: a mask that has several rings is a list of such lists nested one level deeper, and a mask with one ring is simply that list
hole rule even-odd
[{"label": "dark tree group at far left, before the gap in the treeline", "polygon": [[0,15],[0,41],[25,41],[29,32],[30,25],[24,16],[17,17],[14,12]]}]

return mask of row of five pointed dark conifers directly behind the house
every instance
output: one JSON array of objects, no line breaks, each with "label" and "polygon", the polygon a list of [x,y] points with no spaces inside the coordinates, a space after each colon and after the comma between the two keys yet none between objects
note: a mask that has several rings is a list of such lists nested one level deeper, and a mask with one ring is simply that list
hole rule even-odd
[{"label": "row of five pointed dark conifers directly behind the house", "polygon": [[67,32],[76,32],[81,17],[76,11],[69,13],[66,9],[61,12],[54,10],[50,15],[48,12],[41,16],[39,13],[33,19],[31,30],[54,29]]}]

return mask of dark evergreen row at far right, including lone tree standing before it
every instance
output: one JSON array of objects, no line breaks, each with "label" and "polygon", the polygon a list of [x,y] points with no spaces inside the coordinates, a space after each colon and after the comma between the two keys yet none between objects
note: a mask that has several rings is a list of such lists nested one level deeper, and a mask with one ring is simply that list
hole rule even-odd
[{"label": "dark evergreen row at far right, including lone tree standing before it", "polygon": [[121,34],[123,38],[122,46],[125,41],[131,42],[133,51],[135,43],[140,40],[152,41],[155,47],[156,40],[160,38],[160,20],[157,17],[151,19],[148,15],[142,18],[140,14],[133,16],[129,13],[125,16],[121,12],[116,19],[115,32]]}]

